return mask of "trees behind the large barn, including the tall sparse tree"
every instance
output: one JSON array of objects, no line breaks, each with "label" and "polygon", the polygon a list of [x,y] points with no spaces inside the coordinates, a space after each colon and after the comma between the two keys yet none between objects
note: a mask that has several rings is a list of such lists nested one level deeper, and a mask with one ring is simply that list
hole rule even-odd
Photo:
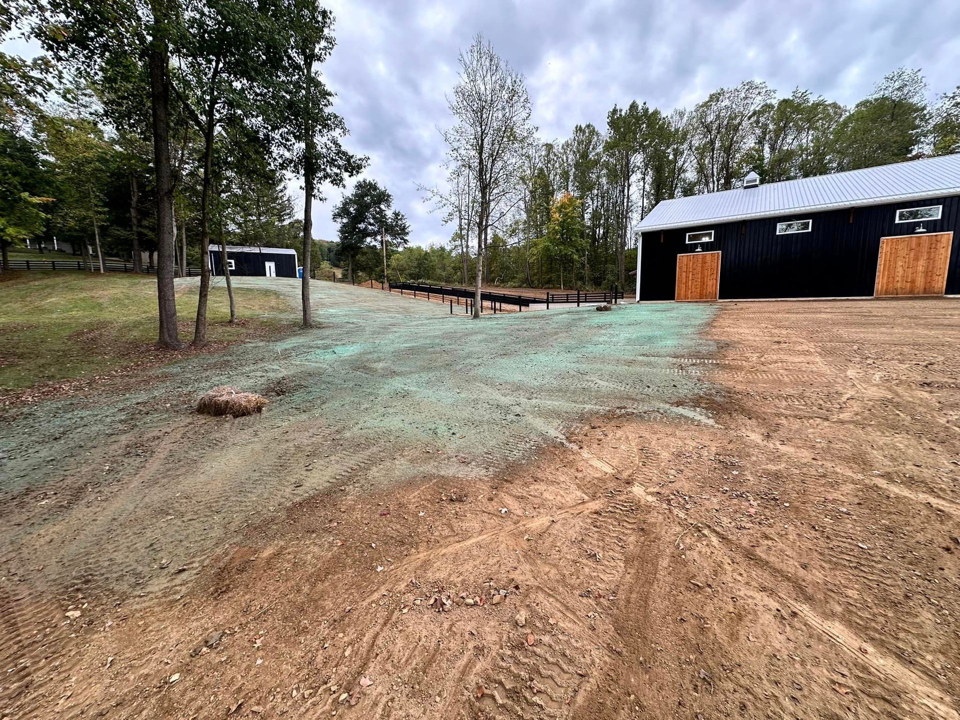
[{"label": "trees behind the large barn, including the tall sparse tree", "polygon": [[746,81],[693,108],[614,106],[606,127],[544,143],[522,75],[488,41],[459,61],[447,181],[423,188],[452,238],[397,257],[433,281],[623,287],[636,223],[662,200],[730,190],[750,171],[774,182],[960,152],[960,87],[928,103],[917,70],[891,72],[851,108]]}]

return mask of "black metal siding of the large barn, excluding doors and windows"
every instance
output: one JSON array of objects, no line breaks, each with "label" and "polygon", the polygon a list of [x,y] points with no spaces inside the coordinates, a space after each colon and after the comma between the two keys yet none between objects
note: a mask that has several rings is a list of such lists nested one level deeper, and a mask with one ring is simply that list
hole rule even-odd
[{"label": "black metal siding of the large barn, excluding doors and windows", "polygon": [[[900,208],[936,204],[943,205],[940,220],[894,222]],[[778,223],[808,218],[810,232],[777,234]],[[723,253],[721,300],[873,297],[880,238],[909,235],[920,225],[954,233],[947,294],[960,294],[960,196],[952,196],[644,232],[640,300],[674,300],[677,255],[697,249],[686,244],[686,233],[710,229],[713,242],[700,247]]]}]

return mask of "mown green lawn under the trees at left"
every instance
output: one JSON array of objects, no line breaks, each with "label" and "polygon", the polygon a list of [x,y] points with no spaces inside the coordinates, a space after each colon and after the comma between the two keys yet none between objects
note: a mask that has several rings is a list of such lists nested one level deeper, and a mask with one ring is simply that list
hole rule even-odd
[{"label": "mown green lawn under the trees at left", "polygon": [[[178,291],[183,340],[193,337],[197,295],[196,288]],[[280,317],[292,308],[276,292],[239,289],[235,296],[239,323],[230,325],[226,289],[210,290],[212,343],[263,337],[296,324]],[[0,276],[0,392],[156,360],[156,334],[156,277],[73,271]]]}]

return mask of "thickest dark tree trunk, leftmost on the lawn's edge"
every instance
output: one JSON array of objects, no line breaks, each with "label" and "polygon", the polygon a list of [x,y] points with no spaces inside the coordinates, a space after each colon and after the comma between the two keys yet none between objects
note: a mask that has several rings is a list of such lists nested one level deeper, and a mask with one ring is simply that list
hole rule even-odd
[{"label": "thickest dark tree trunk, leftmost on the lawn's edge", "polygon": [[174,289],[173,233],[174,182],[170,163],[170,84],[166,37],[161,34],[168,14],[165,0],[154,0],[153,37],[149,52],[150,93],[154,129],[156,172],[156,304],[159,315],[158,342],[164,348],[180,348],[177,336],[177,295]]}]

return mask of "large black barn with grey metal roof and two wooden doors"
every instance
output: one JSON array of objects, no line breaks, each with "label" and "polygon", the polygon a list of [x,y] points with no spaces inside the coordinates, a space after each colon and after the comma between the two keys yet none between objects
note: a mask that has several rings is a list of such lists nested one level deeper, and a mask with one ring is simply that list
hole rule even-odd
[{"label": "large black barn with grey metal roof and two wooden doors", "polygon": [[663,201],[637,300],[960,294],[960,155]]}]

